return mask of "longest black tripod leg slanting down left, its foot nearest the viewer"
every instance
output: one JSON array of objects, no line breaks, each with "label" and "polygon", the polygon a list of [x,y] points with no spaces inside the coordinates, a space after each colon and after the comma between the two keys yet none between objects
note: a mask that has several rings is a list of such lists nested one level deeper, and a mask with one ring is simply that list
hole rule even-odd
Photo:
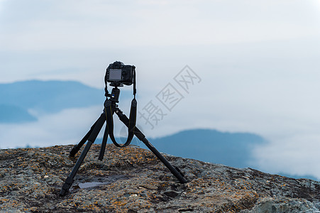
[{"label": "longest black tripod leg slanting down left, its foot nearest the viewer", "polygon": [[67,192],[69,191],[70,187],[72,186],[72,183],[75,181],[73,178],[75,178],[75,175],[77,174],[77,171],[80,168],[80,165],[82,164],[84,158],[86,157],[90,147],[92,146],[92,143],[96,140],[96,137],[98,136],[102,126],[104,126],[104,121],[106,121],[106,116],[104,114],[101,114],[99,119],[96,121],[96,124],[94,125],[94,129],[92,129],[92,132],[88,138],[87,145],[84,147],[84,150],[82,151],[81,155],[79,156],[77,163],[75,164],[75,167],[72,169],[72,172],[65,180],[65,184],[62,185],[62,189],[60,191],[60,196],[65,196]]}]

